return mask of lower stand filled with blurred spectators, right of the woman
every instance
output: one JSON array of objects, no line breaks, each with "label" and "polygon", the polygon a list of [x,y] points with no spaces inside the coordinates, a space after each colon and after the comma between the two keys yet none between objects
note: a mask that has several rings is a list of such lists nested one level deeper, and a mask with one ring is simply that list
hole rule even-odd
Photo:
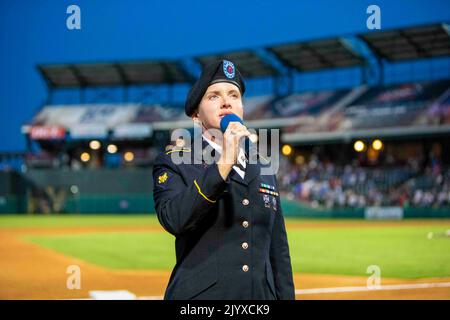
[{"label": "lower stand filled with blurred spectators, right of the woman", "polygon": [[312,157],[303,165],[286,161],[278,178],[283,195],[316,208],[450,206],[450,169],[336,166]]}]

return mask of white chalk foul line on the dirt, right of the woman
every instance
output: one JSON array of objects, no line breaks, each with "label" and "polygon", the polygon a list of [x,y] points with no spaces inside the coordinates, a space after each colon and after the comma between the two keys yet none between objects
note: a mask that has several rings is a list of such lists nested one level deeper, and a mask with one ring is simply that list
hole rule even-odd
[{"label": "white chalk foul line on the dirt, right of the woman", "polygon": [[383,291],[383,290],[408,290],[408,289],[426,289],[426,288],[444,288],[450,287],[450,282],[435,283],[412,283],[412,284],[391,284],[379,287],[334,287],[334,288],[316,288],[316,289],[298,289],[295,294],[316,294],[316,293],[338,293],[338,292],[361,292],[361,291]]}]

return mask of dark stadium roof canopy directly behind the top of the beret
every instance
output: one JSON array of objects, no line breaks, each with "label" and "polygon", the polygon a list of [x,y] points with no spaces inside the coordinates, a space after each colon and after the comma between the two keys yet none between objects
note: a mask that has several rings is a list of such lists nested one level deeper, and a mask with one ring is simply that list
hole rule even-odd
[{"label": "dark stadium roof canopy directly behind the top of the beret", "polygon": [[239,66],[239,71],[245,78],[274,76],[278,71],[264,61],[253,51],[239,51],[227,54],[216,54],[195,58],[204,67],[211,61],[231,60]]}]

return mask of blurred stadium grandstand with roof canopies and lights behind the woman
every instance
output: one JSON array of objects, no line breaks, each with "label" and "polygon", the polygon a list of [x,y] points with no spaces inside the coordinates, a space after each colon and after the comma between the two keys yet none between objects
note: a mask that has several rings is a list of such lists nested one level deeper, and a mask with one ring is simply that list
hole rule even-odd
[{"label": "blurred stadium grandstand with roof canopies and lights behind the woman", "polygon": [[48,99],[22,126],[27,151],[0,154],[0,211],[154,212],[153,161],[172,130],[192,129],[187,90],[219,58],[249,83],[246,124],[280,129],[287,215],[448,215],[447,23],[180,60],[39,65]]}]

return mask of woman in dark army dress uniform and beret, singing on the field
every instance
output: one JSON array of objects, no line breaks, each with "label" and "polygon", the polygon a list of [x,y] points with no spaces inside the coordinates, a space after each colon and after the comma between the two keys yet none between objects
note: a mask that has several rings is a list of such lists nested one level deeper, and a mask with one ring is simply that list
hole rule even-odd
[{"label": "woman in dark army dress uniform and beret, singing on the field", "polygon": [[[175,236],[176,265],[165,299],[294,299],[292,266],[275,175],[261,175],[239,142],[250,135],[221,119],[243,119],[243,79],[231,61],[207,65],[191,88],[186,114],[203,128],[202,148],[220,157],[202,162],[202,150],[174,147],[153,168],[161,225]],[[198,148],[197,148],[198,149]],[[188,155],[175,164],[173,153]],[[196,161],[197,160],[197,161]],[[198,161],[200,160],[200,161]]]}]

